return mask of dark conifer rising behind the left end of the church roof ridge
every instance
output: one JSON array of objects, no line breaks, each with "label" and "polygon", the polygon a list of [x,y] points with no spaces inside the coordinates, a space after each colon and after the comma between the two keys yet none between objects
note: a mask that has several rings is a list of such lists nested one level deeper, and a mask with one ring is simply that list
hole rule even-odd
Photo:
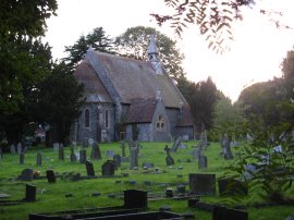
[{"label": "dark conifer rising behind the left end of the church roof ridge", "polygon": [[78,62],[83,60],[89,47],[101,52],[112,53],[112,40],[106,35],[102,27],[95,28],[87,36],[81,36],[79,39],[73,45],[65,47],[65,52],[69,53],[63,60],[68,62],[73,69],[76,68]]}]

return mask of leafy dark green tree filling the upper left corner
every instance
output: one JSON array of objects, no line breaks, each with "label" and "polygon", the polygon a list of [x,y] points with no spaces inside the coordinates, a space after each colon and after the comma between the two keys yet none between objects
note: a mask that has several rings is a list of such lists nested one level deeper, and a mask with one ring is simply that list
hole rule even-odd
[{"label": "leafy dark green tree filling the upper left corner", "polygon": [[[56,0],[2,0],[0,2],[0,114],[20,111],[23,82],[44,78],[44,59],[34,51],[46,19],[54,14]],[[48,61],[46,61],[48,63]],[[46,64],[47,65],[47,64]]]}]

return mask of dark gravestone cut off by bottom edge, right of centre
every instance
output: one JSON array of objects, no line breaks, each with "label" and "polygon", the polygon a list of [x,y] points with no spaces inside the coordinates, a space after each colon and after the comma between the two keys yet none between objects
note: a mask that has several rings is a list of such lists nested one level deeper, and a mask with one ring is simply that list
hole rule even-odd
[{"label": "dark gravestone cut off by bottom edge, right of centre", "polygon": [[224,206],[215,206],[212,210],[212,220],[248,220],[246,210],[231,209]]}]

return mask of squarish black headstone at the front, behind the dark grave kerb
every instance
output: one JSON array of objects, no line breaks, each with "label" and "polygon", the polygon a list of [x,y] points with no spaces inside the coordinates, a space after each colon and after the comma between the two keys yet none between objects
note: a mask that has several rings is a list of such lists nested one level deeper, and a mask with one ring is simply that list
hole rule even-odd
[{"label": "squarish black headstone at the front, behind the dark grave kerb", "polygon": [[147,192],[138,190],[124,191],[124,208],[147,208],[148,197]]}]

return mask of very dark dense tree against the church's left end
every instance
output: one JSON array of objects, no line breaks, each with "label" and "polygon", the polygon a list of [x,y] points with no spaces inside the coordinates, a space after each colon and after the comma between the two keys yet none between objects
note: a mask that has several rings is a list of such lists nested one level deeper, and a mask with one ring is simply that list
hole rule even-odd
[{"label": "very dark dense tree against the church's left end", "polygon": [[53,142],[64,143],[70,126],[79,115],[84,86],[72,74],[64,62],[54,64],[51,75],[41,82],[34,103],[35,119],[51,126]]}]

